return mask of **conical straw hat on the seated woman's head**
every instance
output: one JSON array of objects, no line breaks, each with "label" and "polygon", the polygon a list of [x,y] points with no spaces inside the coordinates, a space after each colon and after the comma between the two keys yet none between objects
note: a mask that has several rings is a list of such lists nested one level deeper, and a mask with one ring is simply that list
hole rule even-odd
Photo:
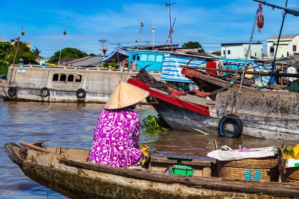
[{"label": "conical straw hat on the seated woman's head", "polygon": [[136,86],[120,81],[109,100],[105,104],[106,109],[124,108],[136,104],[149,96],[149,92]]}]

